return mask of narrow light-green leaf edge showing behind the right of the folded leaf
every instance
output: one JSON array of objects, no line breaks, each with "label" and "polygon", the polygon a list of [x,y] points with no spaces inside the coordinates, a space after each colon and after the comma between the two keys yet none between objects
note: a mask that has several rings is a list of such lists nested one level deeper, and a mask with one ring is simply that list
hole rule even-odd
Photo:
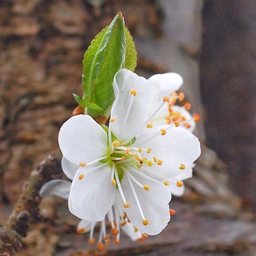
[{"label": "narrow light-green leaf edge showing behind the right of the folded leaf", "polygon": [[125,68],[131,71],[137,66],[137,52],[135,44],[132,40],[132,36],[129,30],[125,27],[125,37],[126,37],[126,53],[125,53]]}]

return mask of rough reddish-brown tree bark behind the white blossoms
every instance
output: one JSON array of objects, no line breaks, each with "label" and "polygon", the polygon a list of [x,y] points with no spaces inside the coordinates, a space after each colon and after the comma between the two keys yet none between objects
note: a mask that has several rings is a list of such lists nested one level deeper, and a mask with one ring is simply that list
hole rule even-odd
[{"label": "rough reddish-brown tree bark behind the white blossoms", "polygon": [[[39,213],[40,186],[61,176],[60,157],[49,153],[58,150],[59,128],[77,105],[72,93],[81,95],[84,52],[118,11],[133,35],[161,34],[157,1],[0,2],[0,255],[254,256],[255,216],[230,192],[225,166],[204,145],[184,196],[171,201],[176,215],[143,243],[121,234],[120,245],[95,250],[88,234],[76,233],[66,201],[44,199]],[[159,70],[166,71],[139,55],[137,72]]]}]

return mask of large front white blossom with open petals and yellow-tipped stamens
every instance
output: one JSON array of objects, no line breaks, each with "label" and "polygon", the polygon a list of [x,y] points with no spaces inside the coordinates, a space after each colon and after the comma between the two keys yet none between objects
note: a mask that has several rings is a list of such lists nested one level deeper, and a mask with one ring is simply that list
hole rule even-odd
[{"label": "large front white blossom with open petals and yellow-tipped stamens", "polygon": [[[60,129],[63,171],[74,175],[69,209],[95,222],[102,221],[115,204],[133,226],[154,235],[170,219],[168,179],[197,159],[199,141],[180,127],[152,128],[150,85],[143,77],[120,70],[113,88],[108,129],[87,115],[71,117]],[[161,105],[168,101],[165,97]]]}]

